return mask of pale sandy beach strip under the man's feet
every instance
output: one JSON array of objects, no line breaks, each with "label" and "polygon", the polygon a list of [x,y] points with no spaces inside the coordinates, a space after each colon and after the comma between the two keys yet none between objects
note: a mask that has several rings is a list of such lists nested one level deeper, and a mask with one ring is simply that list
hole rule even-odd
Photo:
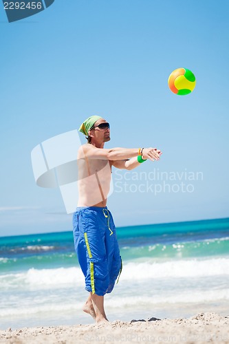
[{"label": "pale sandy beach strip under the man's feet", "polygon": [[0,331],[0,343],[229,343],[229,316],[199,313],[188,319],[155,319],[9,328]]}]

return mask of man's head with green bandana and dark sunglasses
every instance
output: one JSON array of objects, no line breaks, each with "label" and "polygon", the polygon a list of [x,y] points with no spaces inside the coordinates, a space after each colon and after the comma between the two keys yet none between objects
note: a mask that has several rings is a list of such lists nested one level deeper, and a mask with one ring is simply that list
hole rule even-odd
[{"label": "man's head with green bandana and dark sunglasses", "polygon": [[107,142],[111,140],[109,123],[100,116],[91,116],[80,126],[79,131],[87,137],[87,142]]}]

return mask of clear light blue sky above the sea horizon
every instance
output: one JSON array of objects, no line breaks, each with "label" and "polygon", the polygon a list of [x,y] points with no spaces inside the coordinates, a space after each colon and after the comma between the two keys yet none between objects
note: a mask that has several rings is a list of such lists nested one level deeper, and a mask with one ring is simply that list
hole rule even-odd
[{"label": "clear light blue sky above the sea horizon", "polygon": [[[228,10],[226,0],[55,0],[8,23],[1,5],[0,235],[72,229],[60,191],[36,186],[30,153],[94,114],[111,123],[107,148],[163,151],[135,175],[113,170],[117,226],[228,217]],[[168,89],[178,67],[196,76],[188,96]],[[155,195],[166,180],[153,171],[175,173],[170,191]]]}]

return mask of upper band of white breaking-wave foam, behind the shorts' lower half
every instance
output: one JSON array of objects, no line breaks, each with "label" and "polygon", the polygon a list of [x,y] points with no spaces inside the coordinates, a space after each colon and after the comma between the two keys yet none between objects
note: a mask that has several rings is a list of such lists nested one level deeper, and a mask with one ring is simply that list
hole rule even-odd
[{"label": "upper band of white breaking-wave foam, behind the shorts' lower half", "polygon": [[[187,259],[166,262],[131,262],[124,264],[122,281],[155,281],[162,278],[190,278],[229,276],[229,257],[218,259]],[[34,269],[16,274],[0,275],[1,288],[46,288],[48,286],[68,288],[82,285],[83,272],[80,268]]]}]

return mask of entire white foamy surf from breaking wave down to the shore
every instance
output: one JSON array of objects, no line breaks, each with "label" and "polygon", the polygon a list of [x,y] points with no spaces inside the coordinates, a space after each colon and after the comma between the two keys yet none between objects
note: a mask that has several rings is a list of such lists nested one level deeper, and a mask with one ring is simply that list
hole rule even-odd
[{"label": "entire white foamy surf from breaking wave down to the shore", "polygon": [[[107,310],[188,308],[229,301],[229,257],[124,264],[120,283],[106,295]],[[0,319],[79,314],[87,292],[80,268],[0,275]],[[1,323],[1,321],[0,321]]]}]

